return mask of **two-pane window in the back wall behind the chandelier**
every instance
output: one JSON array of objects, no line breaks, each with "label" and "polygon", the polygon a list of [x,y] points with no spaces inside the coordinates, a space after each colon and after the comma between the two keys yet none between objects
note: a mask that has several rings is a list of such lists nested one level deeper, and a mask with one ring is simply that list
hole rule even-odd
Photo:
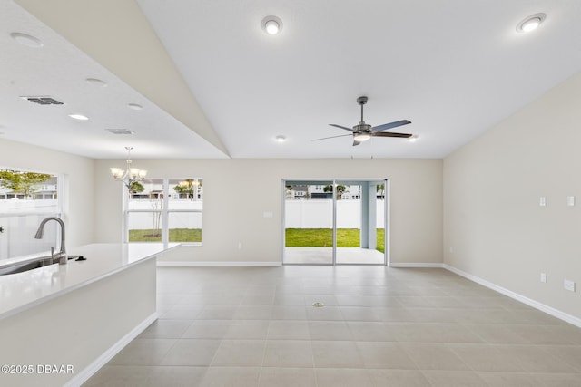
[{"label": "two-pane window in the back wall behind the chandelier", "polygon": [[144,179],[125,206],[125,240],[202,244],[203,181]]}]

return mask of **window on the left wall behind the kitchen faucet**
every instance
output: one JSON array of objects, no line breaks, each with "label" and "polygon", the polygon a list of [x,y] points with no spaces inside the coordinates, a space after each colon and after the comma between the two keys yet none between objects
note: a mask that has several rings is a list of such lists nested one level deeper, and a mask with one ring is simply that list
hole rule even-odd
[{"label": "window on the left wall behind the kitchen faucet", "polygon": [[60,227],[49,222],[34,239],[40,222],[62,217],[63,177],[53,173],[0,168],[0,260],[50,251],[58,246]]}]

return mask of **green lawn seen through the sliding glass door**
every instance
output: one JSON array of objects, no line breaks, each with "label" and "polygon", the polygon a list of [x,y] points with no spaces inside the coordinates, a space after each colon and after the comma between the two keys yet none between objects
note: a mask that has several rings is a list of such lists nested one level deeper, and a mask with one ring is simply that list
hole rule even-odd
[{"label": "green lawn seen through the sliding glass door", "polygon": [[[384,230],[378,228],[378,251],[384,252]],[[330,228],[286,228],[285,247],[332,247],[333,231]],[[359,247],[358,228],[338,228],[337,247]]]}]

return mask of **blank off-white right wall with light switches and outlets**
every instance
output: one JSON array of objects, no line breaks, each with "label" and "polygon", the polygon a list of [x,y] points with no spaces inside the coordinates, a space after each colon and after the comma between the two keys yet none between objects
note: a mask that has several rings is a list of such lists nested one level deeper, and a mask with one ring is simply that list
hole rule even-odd
[{"label": "blank off-white right wall with light switches and outlets", "polygon": [[578,318],[580,101],[581,73],[444,160],[444,262]]}]

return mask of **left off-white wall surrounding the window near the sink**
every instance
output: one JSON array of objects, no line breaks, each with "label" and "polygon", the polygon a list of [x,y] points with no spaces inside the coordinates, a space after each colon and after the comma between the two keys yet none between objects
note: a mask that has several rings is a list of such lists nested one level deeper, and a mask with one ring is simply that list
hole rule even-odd
[{"label": "left off-white wall surrounding the window near the sink", "polygon": [[[94,242],[93,159],[0,140],[0,167],[63,173],[67,247]],[[10,230],[6,230],[5,234],[8,232]],[[30,237],[34,239],[34,235]],[[4,243],[3,234],[0,234],[0,243]]]}]

